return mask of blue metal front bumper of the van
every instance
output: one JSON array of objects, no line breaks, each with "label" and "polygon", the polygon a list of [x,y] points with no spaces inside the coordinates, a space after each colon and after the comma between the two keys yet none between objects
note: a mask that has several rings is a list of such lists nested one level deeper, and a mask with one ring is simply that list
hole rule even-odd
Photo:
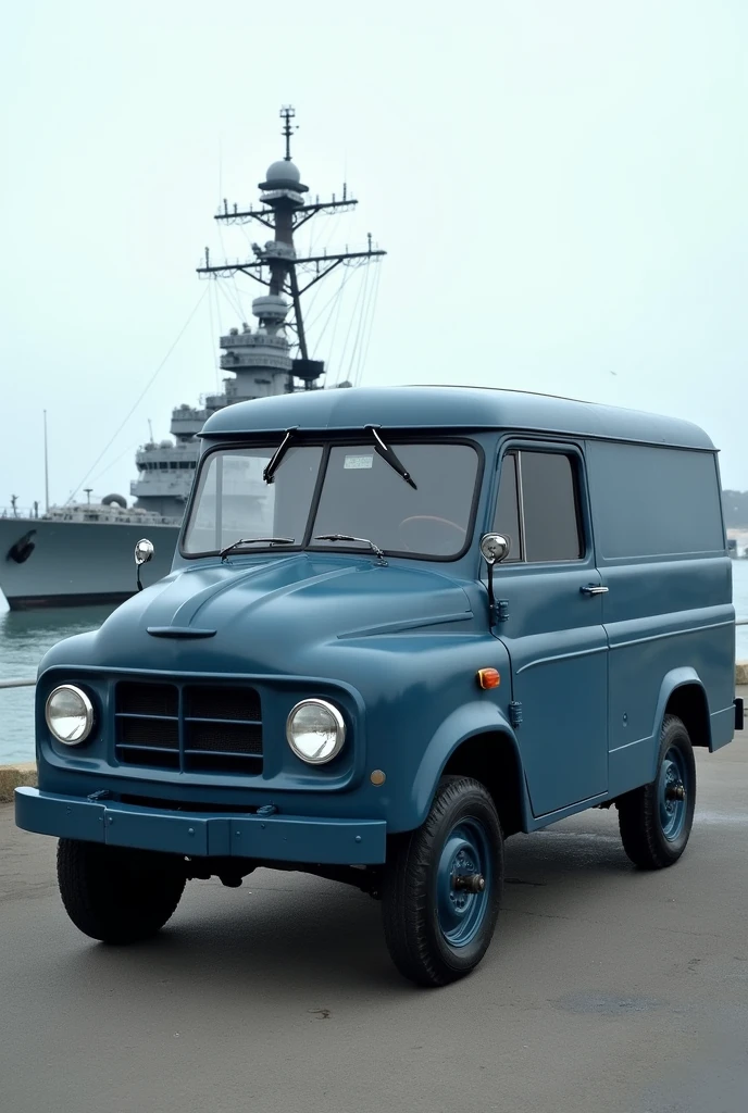
[{"label": "blue metal front bumper of the van", "polygon": [[373,866],[386,856],[387,825],[383,819],[190,814],[82,800],[37,788],[16,789],[16,824],[38,835],[190,858]]}]

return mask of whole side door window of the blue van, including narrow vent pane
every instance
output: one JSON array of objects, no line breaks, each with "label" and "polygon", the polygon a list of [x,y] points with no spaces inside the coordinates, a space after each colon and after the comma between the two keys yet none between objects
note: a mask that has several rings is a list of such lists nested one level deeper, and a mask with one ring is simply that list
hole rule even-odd
[{"label": "whole side door window of the blue van, including narrow vent pane", "polygon": [[511,561],[565,561],[584,555],[574,461],[562,452],[508,453],[493,529],[510,539]]}]

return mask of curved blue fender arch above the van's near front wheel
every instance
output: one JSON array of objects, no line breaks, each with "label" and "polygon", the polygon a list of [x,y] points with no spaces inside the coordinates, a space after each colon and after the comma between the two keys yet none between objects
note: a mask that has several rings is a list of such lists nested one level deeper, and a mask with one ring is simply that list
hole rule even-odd
[{"label": "curved blue fender arch above the van's near front wheel", "polygon": [[[424,750],[423,757],[413,779],[409,814],[415,817],[415,827],[420,827],[429,815],[439,779],[442,776],[446,762],[462,742],[475,735],[501,733],[509,738],[516,751],[520,770],[522,759],[520,757],[516,736],[509,725],[509,720],[502,710],[494,703],[483,700],[473,700],[455,708],[440,723],[431,741]],[[521,776],[522,784],[522,816],[529,816],[529,804],[524,787],[524,776]]]}]

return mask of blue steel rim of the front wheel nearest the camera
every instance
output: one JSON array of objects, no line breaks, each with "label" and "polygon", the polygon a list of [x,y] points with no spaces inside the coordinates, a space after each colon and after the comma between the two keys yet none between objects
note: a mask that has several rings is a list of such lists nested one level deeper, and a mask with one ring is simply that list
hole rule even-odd
[{"label": "blue steel rim of the front wheel nearest the camera", "polygon": [[[481,893],[455,887],[456,877],[480,874]],[[461,819],[444,840],[436,869],[436,914],[443,938],[466,947],[481,929],[491,899],[491,849],[485,828],[472,817]]]}]

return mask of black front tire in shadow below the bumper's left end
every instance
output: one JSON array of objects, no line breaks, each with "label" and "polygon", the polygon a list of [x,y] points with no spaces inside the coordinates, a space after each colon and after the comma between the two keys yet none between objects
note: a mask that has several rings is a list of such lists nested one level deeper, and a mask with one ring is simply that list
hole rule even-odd
[{"label": "black front tire in shadow below the bumper's left end", "polygon": [[72,923],[102,943],[137,943],[159,932],[185,888],[180,860],[147,850],[60,839],[60,896]]}]

